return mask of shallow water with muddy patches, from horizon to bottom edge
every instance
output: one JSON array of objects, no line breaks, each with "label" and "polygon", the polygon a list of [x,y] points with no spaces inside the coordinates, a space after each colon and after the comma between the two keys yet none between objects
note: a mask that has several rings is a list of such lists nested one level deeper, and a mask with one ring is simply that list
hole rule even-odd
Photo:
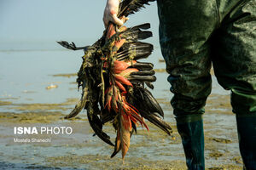
[{"label": "shallow water with muddy patches, from horizon to bottom edge", "polygon": [[[181,139],[177,134],[166,72],[156,72],[154,97],[173,127],[174,138],[166,136],[149,122],[149,132],[138,128],[122,165],[113,148],[92,136],[85,112],[72,121],[62,117],[72,111],[80,92],[71,74],[79,71],[82,51],[59,48],[19,48],[0,51],[0,168],[1,169],[185,169]],[[148,61],[159,62],[160,48]],[[54,76],[64,74],[64,76]],[[212,94],[204,115],[206,166],[209,169],[241,169],[236,120],[231,113],[229,91],[224,91],[212,76]],[[50,85],[57,88],[46,89]],[[70,135],[17,135],[14,127],[73,127]],[[113,127],[104,131],[114,140]],[[15,143],[14,138],[51,139],[49,143]]]}]

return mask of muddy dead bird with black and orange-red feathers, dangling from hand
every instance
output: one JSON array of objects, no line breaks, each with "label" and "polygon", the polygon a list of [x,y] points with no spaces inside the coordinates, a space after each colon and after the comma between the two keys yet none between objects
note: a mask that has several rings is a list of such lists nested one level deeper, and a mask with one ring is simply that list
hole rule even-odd
[{"label": "muddy dead bird with black and orange-red feathers, dangling from hand", "polygon": [[[149,1],[152,0],[121,1],[119,18],[137,12]],[[153,64],[137,61],[148,58],[153,51],[152,44],[139,41],[152,37],[152,32],[147,31],[149,28],[148,23],[131,28],[110,23],[102,38],[91,46],[76,47],[73,42],[59,42],[65,48],[84,49],[77,79],[79,88],[83,89],[82,97],[66,118],[87,110],[90,126],[96,135],[114,146],[111,157],[121,150],[124,159],[137,125],[148,129],[143,118],[167,134],[172,133],[172,128],[161,118],[164,112],[160,105],[145,88],[154,88],[151,83],[156,80]],[[117,133],[115,144],[102,131],[106,122],[111,122]]]}]

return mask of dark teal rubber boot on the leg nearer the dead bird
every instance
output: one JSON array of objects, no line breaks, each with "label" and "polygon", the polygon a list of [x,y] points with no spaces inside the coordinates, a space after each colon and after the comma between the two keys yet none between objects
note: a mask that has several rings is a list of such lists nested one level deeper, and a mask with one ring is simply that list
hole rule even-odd
[{"label": "dark teal rubber boot on the leg nearer the dead bird", "polygon": [[204,133],[201,115],[177,116],[177,132],[183,142],[189,170],[205,169]]}]

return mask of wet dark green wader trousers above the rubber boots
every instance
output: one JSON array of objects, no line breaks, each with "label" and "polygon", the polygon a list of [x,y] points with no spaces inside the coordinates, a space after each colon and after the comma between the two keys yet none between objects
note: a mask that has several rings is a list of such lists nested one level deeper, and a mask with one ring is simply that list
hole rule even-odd
[{"label": "wet dark green wader trousers above the rubber boots", "polygon": [[256,1],[158,0],[176,116],[204,112],[211,65],[236,114],[256,114]]}]

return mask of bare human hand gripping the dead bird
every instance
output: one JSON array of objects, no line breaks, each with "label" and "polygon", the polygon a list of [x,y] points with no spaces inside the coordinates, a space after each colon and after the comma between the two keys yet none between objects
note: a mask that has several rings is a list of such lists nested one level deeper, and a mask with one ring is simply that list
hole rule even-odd
[{"label": "bare human hand gripping the dead bird", "polygon": [[108,0],[103,15],[103,22],[105,27],[108,26],[109,21],[112,21],[118,26],[122,26],[125,23],[127,19],[125,17],[122,17],[122,19],[120,20],[117,16],[118,12],[119,0]]}]

